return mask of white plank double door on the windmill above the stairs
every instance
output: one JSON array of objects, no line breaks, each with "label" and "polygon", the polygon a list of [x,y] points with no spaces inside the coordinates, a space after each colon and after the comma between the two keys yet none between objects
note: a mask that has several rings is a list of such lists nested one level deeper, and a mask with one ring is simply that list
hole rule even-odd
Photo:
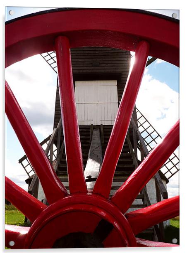
[{"label": "white plank double door on the windmill above the stairs", "polygon": [[76,81],[75,99],[79,125],[111,125],[118,108],[117,81]]}]

